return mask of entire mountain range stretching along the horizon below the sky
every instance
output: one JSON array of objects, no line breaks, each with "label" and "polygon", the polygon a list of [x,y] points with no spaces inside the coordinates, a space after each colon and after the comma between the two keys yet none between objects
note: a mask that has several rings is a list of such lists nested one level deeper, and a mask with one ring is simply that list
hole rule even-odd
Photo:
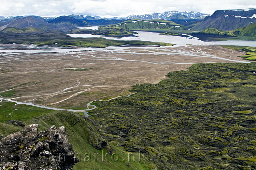
[{"label": "entire mountain range stretching along the horizon below the sky", "polygon": [[[167,21],[172,21],[167,22]],[[101,18],[99,16],[69,15],[60,17],[0,16],[0,30],[7,27],[36,28],[43,31],[58,30],[64,33],[76,27],[110,26],[127,30],[205,30],[215,28],[228,31],[246,27],[256,22],[256,8],[242,10],[217,10],[212,15],[200,12],[166,11],[125,18]],[[173,27],[172,27],[173,26]]]}]

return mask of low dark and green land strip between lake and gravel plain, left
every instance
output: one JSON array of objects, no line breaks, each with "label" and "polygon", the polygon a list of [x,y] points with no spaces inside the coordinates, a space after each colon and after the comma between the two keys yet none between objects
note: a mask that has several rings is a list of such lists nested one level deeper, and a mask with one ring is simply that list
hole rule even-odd
[{"label": "low dark and green land strip between lake and gravel plain, left", "polygon": [[34,44],[34,45],[58,45],[63,47],[108,47],[122,45],[145,45],[145,46],[173,46],[169,43],[154,43],[151,41],[119,41],[96,38],[68,38],[68,35],[59,31],[40,33],[4,33],[0,32],[0,44]]}]

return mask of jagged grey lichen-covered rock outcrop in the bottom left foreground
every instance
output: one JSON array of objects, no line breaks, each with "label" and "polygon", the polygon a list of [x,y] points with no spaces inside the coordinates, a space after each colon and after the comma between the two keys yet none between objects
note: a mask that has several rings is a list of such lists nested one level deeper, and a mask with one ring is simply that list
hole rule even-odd
[{"label": "jagged grey lichen-covered rock outcrop in the bottom left foreground", "polygon": [[71,170],[78,161],[64,126],[38,132],[38,124],[27,125],[0,142],[0,169]]}]

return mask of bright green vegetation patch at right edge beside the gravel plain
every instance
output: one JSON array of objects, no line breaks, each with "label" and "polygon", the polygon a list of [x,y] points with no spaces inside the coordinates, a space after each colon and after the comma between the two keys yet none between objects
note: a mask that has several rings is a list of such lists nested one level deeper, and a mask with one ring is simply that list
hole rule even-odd
[{"label": "bright green vegetation patch at right edge beside the gravel plain", "polygon": [[247,47],[247,46],[222,46],[222,47],[233,49],[233,50],[246,51],[245,55],[242,55],[240,57],[243,57],[244,60],[256,61],[256,47]]}]

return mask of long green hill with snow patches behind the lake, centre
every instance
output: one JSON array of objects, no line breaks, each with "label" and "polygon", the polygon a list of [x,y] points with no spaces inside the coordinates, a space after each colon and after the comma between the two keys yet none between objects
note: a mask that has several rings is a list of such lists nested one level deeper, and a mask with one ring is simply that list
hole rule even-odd
[{"label": "long green hill with snow patches behind the lake, centre", "polygon": [[172,21],[161,19],[154,20],[128,20],[108,27],[125,28],[127,30],[144,30],[144,31],[167,31],[167,30],[189,30],[187,27]]}]

